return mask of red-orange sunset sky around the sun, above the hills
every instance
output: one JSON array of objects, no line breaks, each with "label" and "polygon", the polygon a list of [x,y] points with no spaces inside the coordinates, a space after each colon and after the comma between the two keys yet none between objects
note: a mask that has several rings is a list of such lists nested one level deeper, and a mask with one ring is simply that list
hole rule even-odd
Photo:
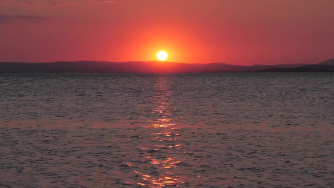
[{"label": "red-orange sunset sky around the sun, above the hills", "polygon": [[0,0],[0,61],[334,59],[334,0]]}]

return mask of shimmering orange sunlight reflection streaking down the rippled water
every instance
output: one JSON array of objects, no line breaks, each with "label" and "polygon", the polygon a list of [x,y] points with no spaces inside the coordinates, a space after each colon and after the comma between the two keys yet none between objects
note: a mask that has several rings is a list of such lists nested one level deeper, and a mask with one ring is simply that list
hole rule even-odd
[{"label": "shimmering orange sunlight reflection streaking down the rippled water", "polygon": [[[154,104],[153,117],[149,120],[149,127],[157,130],[153,134],[152,145],[141,146],[141,149],[147,152],[146,159],[154,166],[157,173],[146,174],[136,170],[135,172],[142,177],[143,182],[137,184],[149,188],[163,188],[166,186],[175,186],[184,184],[178,176],[178,164],[181,161],[176,157],[175,152],[181,152],[179,149],[182,145],[179,143],[179,133],[173,132],[176,123],[171,119],[172,107],[168,99],[171,91],[168,89],[166,77],[158,77],[154,90],[156,95],[152,97]],[[175,153],[175,154],[174,154]]]}]

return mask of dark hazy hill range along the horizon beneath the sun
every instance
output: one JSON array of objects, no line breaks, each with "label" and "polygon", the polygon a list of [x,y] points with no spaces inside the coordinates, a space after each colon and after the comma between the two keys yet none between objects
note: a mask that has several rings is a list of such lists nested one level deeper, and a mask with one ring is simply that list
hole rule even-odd
[{"label": "dark hazy hill range along the horizon beneath the sun", "polygon": [[334,72],[334,60],[318,64],[242,66],[227,63],[175,62],[0,62],[0,73],[205,73],[205,72]]}]

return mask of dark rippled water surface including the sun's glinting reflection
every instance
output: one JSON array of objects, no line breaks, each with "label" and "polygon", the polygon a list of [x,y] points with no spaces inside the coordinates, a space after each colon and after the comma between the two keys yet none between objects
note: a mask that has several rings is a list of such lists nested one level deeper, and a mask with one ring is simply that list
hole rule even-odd
[{"label": "dark rippled water surface including the sun's glinting reflection", "polygon": [[0,188],[333,188],[334,74],[0,75]]}]

